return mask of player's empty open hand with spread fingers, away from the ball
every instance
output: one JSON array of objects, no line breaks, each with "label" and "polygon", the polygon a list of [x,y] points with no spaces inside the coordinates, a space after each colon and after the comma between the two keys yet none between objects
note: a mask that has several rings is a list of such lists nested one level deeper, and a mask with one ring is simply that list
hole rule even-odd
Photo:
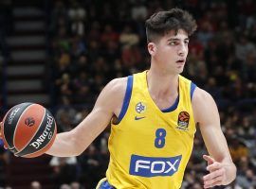
[{"label": "player's empty open hand with spread fingers, away from the ball", "polygon": [[227,173],[224,164],[216,162],[207,155],[204,155],[203,158],[208,162],[207,170],[210,171],[210,173],[203,178],[204,188],[226,184]]}]

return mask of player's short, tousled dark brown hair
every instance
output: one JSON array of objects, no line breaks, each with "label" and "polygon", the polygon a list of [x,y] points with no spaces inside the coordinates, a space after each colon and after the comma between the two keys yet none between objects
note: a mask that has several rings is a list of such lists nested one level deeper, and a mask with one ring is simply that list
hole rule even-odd
[{"label": "player's short, tousled dark brown hair", "polygon": [[171,30],[177,33],[178,29],[183,29],[191,36],[197,27],[188,11],[177,8],[156,12],[146,21],[145,26],[148,43],[158,40]]}]

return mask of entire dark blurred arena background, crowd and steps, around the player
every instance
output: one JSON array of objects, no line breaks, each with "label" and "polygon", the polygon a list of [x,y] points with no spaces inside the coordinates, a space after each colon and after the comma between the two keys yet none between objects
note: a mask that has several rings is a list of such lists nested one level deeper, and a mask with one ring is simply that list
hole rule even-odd
[{"label": "entire dark blurred arena background, crowd and steps, around the player", "polygon": [[[183,76],[215,99],[238,167],[226,189],[256,188],[256,2],[253,0],[1,0],[0,116],[21,102],[54,113],[59,132],[91,111],[114,77],[149,69],[145,20],[183,8],[196,18]],[[15,158],[0,141],[0,188],[91,189],[108,165],[109,129],[81,156]],[[201,189],[206,153],[196,133],[183,189]]]}]

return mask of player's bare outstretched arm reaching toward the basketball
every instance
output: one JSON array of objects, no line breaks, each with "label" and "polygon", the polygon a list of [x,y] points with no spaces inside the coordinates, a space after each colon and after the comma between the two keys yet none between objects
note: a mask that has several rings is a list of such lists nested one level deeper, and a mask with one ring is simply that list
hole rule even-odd
[{"label": "player's bare outstretched arm reaching toward the basketball", "polygon": [[112,116],[122,105],[126,78],[116,78],[106,85],[95,107],[75,128],[57,134],[56,140],[46,152],[49,155],[78,156],[108,126]]}]

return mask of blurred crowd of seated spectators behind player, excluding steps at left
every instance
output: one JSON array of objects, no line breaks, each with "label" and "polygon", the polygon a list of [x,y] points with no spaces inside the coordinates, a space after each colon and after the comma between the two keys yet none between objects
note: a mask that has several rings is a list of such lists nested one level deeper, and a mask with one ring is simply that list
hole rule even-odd
[{"label": "blurred crowd of seated spectators behind player, excluding steps at left", "polygon": [[[256,4],[253,0],[55,1],[48,17],[54,113],[60,131],[73,129],[115,77],[149,69],[145,20],[155,11],[188,9],[198,29],[183,76],[215,99],[238,167],[226,188],[256,188]],[[53,157],[56,187],[94,188],[108,165],[109,128],[76,158]],[[196,133],[183,188],[201,189],[207,151]],[[1,157],[0,157],[1,158]],[[1,161],[0,161],[1,163]],[[224,187],[220,187],[224,188]]]}]

